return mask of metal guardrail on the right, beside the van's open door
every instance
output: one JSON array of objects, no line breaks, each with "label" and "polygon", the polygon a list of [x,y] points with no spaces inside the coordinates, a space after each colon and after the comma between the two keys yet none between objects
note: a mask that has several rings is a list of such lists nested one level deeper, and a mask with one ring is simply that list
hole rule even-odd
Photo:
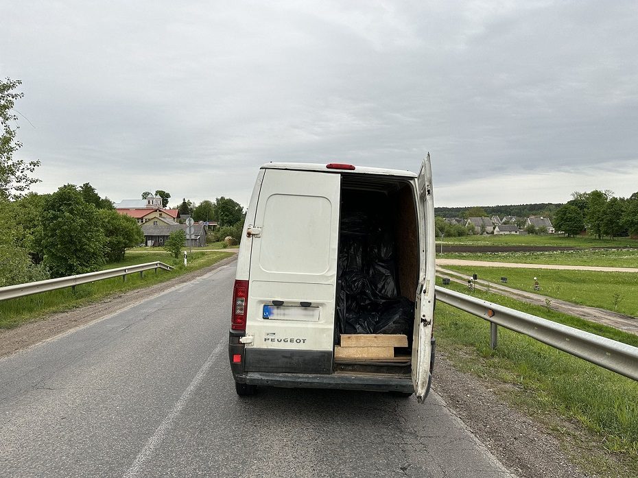
[{"label": "metal guardrail on the right, beside the van's open door", "polygon": [[497,326],[501,326],[638,381],[638,347],[467,296],[445,287],[437,286],[435,290],[436,300],[490,322],[492,348],[496,348]]}]

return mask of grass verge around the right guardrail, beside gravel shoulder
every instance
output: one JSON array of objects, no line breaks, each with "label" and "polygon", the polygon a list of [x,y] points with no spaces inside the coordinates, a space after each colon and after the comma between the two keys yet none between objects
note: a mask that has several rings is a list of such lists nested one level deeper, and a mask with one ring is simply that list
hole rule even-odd
[{"label": "grass verge around the right guardrail, beside gravel shoulder", "polygon": [[[437,278],[440,285],[440,278]],[[451,289],[466,292],[462,285]],[[543,307],[524,304],[488,292],[473,294],[550,320],[598,333],[631,345],[638,337],[614,328],[591,324]],[[638,382],[604,370],[587,361],[541,344],[525,335],[499,327],[497,350],[489,347],[489,324],[446,304],[436,305],[435,334],[440,350],[461,370],[479,377],[514,384],[501,390],[505,398],[526,413],[549,422],[558,435],[560,425],[552,422],[558,415],[580,423],[598,437],[599,446],[617,453],[627,470],[638,466]],[[591,441],[587,437],[584,442]],[[578,452],[574,451],[575,455]],[[600,467],[602,457],[588,457]],[[617,471],[617,470],[616,470]],[[620,475],[629,476],[626,473]]]}]

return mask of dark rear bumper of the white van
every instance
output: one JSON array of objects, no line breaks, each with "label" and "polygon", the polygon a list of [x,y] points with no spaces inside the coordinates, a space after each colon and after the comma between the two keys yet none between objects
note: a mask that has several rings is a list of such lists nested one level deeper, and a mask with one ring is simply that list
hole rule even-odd
[{"label": "dark rear bumper of the white van", "polygon": [[341,390],[370,390],[376,392],[414,392],[410,376],[375,377],[355,374],[290,374],[276,372],[244,372],[233,374],[235,381],[248,385],[271,387],[336,388]]}]

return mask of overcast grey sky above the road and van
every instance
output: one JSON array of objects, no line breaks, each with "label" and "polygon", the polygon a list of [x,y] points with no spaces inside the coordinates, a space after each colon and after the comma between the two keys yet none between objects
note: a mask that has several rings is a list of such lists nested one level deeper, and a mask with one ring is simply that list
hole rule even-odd
[{"label": "overcast grey sky above the road and van", "polygon": [[638,191],[636,1],[0,0],[34,187],[248,204],[268,161],[418,171],[436,206]]}]

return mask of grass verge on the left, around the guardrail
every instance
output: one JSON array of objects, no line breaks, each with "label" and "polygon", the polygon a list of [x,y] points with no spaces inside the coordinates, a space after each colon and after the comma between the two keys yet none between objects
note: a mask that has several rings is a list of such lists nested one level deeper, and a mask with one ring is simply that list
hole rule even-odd
[{"label": "grass verge on the left, around the guardrail", "polygon": [[125,267],[126,265],[162,261],[174,266],[175,270],[172,272],[158,270],[157,274],[153,271],[146,271],[143,278],[140,277],[140,274],[130,274],[127,276],[126,282],[121,277],[98,280],[94,283],[78,285],[78,287],[75,287],[75,292],[73,292],[71,287],[67,287],[66,289],[4,300],[0,302],[0,328],[19,326],[47,313],[80,307],[88,302],[105,298],[110,294],[139,289],[140,287],[149,287],[188,272],[202,269],[202,267],[213,265],[231,256],[233,256],[233,252],[192,252],[188,255],[188,267],[184,267],[183,259],[174,259],[172,256],[159,251],[127,254],[123,261],[110,263],[102,269],[114,269],[116,267]]}]

